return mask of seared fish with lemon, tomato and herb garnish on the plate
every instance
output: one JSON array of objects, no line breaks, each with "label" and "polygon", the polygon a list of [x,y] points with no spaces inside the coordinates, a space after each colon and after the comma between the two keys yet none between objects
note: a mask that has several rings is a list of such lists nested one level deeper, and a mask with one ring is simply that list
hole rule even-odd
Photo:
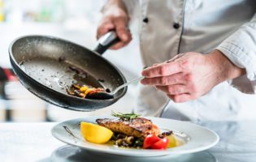
[{"label": "seared fish with lemon, tomato and herb garnish on the plate", "polygon": [[172,131],[161,133],[149,119],[135,113],[112,113],[117,118],[99,118],[97,124],[81,122],[80,130],[91,143],[111,143],[117,147],[167,149],[180,142]]}]

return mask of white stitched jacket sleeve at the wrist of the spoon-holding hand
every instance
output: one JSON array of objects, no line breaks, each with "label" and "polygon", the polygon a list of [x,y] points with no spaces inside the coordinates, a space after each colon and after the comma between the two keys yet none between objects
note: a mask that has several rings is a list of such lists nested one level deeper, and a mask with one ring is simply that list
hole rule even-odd
[{"label": "white stitched jacket sleeve at the wrist of the spoon-holding hand", "polygon": [[241,92],[256,93],[256,14],[217,47],[233,64],[246,70],[246,75],[229,83]]}]

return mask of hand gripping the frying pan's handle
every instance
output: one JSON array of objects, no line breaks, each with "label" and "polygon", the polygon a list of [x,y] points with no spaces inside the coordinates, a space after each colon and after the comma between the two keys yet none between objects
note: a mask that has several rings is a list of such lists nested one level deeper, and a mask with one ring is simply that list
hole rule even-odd
[{"label": "hand gripping the frying pan's handle", "polygon": [[120,49],[132,40],[128,30],[128,13],[122,0],[109,0],[102,8],[102,20],[98,25],[97,39],[111,30],[115,30],[120,41],[111,49]]}]

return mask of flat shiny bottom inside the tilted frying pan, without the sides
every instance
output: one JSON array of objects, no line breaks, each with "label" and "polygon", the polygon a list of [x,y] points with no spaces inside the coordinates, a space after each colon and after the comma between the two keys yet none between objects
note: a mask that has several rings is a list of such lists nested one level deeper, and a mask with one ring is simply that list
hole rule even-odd
[{"label": "flat shiny bottom inside the tilted frying pan, without the sides", "polygon": [[100,82],[102,79],[95,79],[85,70],[65,61],[33,58],[20,62],[20,67],[37,82],[58,92],[66,93],[66,88],[71,87],[73,83],[107,88]]}]

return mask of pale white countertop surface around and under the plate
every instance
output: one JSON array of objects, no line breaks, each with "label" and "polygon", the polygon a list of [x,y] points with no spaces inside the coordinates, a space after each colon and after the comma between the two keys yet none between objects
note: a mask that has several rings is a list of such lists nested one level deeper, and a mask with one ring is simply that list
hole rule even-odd
[{"label": "pale white countertop surface around and under the plate", "polygon": [[[256,161],[256,121],[200,122],[215,130],[219,143],[207,151],[182,157],[150,159],[99,155],[65,145],[50,134],[54,122],[0,123],[0,160],[6,161]],[[94,153],[95,155],[95,153]],[[92,158],[93,157],[93,158]],[[172,159],[172,160],[171,160]]]}]

